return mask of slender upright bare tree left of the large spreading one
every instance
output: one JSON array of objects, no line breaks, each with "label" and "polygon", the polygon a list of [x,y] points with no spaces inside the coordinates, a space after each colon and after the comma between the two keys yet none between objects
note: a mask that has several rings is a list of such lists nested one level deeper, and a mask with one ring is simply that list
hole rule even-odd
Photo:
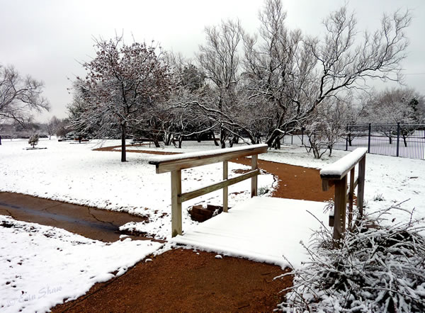
[{"label": "slender upright bare tree left of the large spreading one", "polygon": [[205,28],[206,43],[199,47],[198,62],[208,82],[202,101],[193,101],[201,115],[220,130],[221,147],[226,140],[232,146],[244,127],[237,120],[241,103],[241,79],[238,47],[242,42],[239,21],[223,21],[219,26]]}]

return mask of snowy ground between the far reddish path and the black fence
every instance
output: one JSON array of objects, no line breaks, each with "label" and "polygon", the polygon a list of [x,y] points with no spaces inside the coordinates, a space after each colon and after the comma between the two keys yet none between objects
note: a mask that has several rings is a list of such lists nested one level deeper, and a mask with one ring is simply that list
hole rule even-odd
[{"label": "snowy ground between the far reddish path and the black fence", "polygon": [[[313,159],[304,148],[283,146],[280,150],[269,150],[260,159],[280,163],[322,169],[325,165],[344,157],[349,152],[334,150],[332,156]],[[365,210],[375,212],[397,203],[407,210],[415,209],[416,218],[425,218],[425,160],[388,157],[366,154]],[[394,211],[395,222],[409,219],[402,211]]]}]

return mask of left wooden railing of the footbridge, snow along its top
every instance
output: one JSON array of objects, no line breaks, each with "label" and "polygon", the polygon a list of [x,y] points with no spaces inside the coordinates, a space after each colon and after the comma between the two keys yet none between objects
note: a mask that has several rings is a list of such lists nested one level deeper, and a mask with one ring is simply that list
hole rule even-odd
[{"label": "left wooden railing of the footbridge, snow along its top", "polygon": [[[149,161],[157,168],[157,173],[171,172],[171,229],[172,237],[182,234],[181,203],[193,198],[223,189],[223,212],[227,212],[227,187],[251,178],[251,197],[257,195],[258,154],[267,152],[267,144],[254,144],[247,147],[215,149],[205,152],[191,152],[171,156],[156,157]],[[234,178],[228,178],[228,161],[251,156],[251,171]],[[188,193],[181,193],[181,170],[192,167],[223,162],[223,181],[205,186]]]}]

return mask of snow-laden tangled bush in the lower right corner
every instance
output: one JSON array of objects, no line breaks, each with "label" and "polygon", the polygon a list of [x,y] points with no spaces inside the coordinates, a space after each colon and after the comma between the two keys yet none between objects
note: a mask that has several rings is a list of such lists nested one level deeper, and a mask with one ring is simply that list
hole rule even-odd
[{"label": "snow-laden tangled bush in the lower right corner", "polygon": [[[346,232],[341,249],[324,227],[306,249],[310,261],[292,273],[279,305],[286,312],[425,312],[425,224],[382,223],[399,205]],[[378,217],[376,217],[378,216]],[[388,223],[392,222],[392,223]],[[392,224],[384,226],[384,224]],[[422,234],[421,234],[422,232]]]}]

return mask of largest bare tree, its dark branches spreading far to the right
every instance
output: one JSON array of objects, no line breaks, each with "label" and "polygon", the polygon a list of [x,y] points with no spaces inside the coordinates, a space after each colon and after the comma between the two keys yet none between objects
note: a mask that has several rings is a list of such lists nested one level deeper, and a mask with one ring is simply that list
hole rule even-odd
[{"label": "largest bare tree, its dark branches spreading far to the right", "polygon": [[[409,13],[383,16],[381,28],[358,38],[356,18],[344,6],[325,20],[324,38],[289,30],[280,0],[260,13],[261,41],[246,36],[245,71],[251,98],[270,103],[273,122],[266,142],[300,127],[327,98],[366,88],[368,79],[399,80],[408,40]],[[357,42],[360,42],[356,45]]]}]

